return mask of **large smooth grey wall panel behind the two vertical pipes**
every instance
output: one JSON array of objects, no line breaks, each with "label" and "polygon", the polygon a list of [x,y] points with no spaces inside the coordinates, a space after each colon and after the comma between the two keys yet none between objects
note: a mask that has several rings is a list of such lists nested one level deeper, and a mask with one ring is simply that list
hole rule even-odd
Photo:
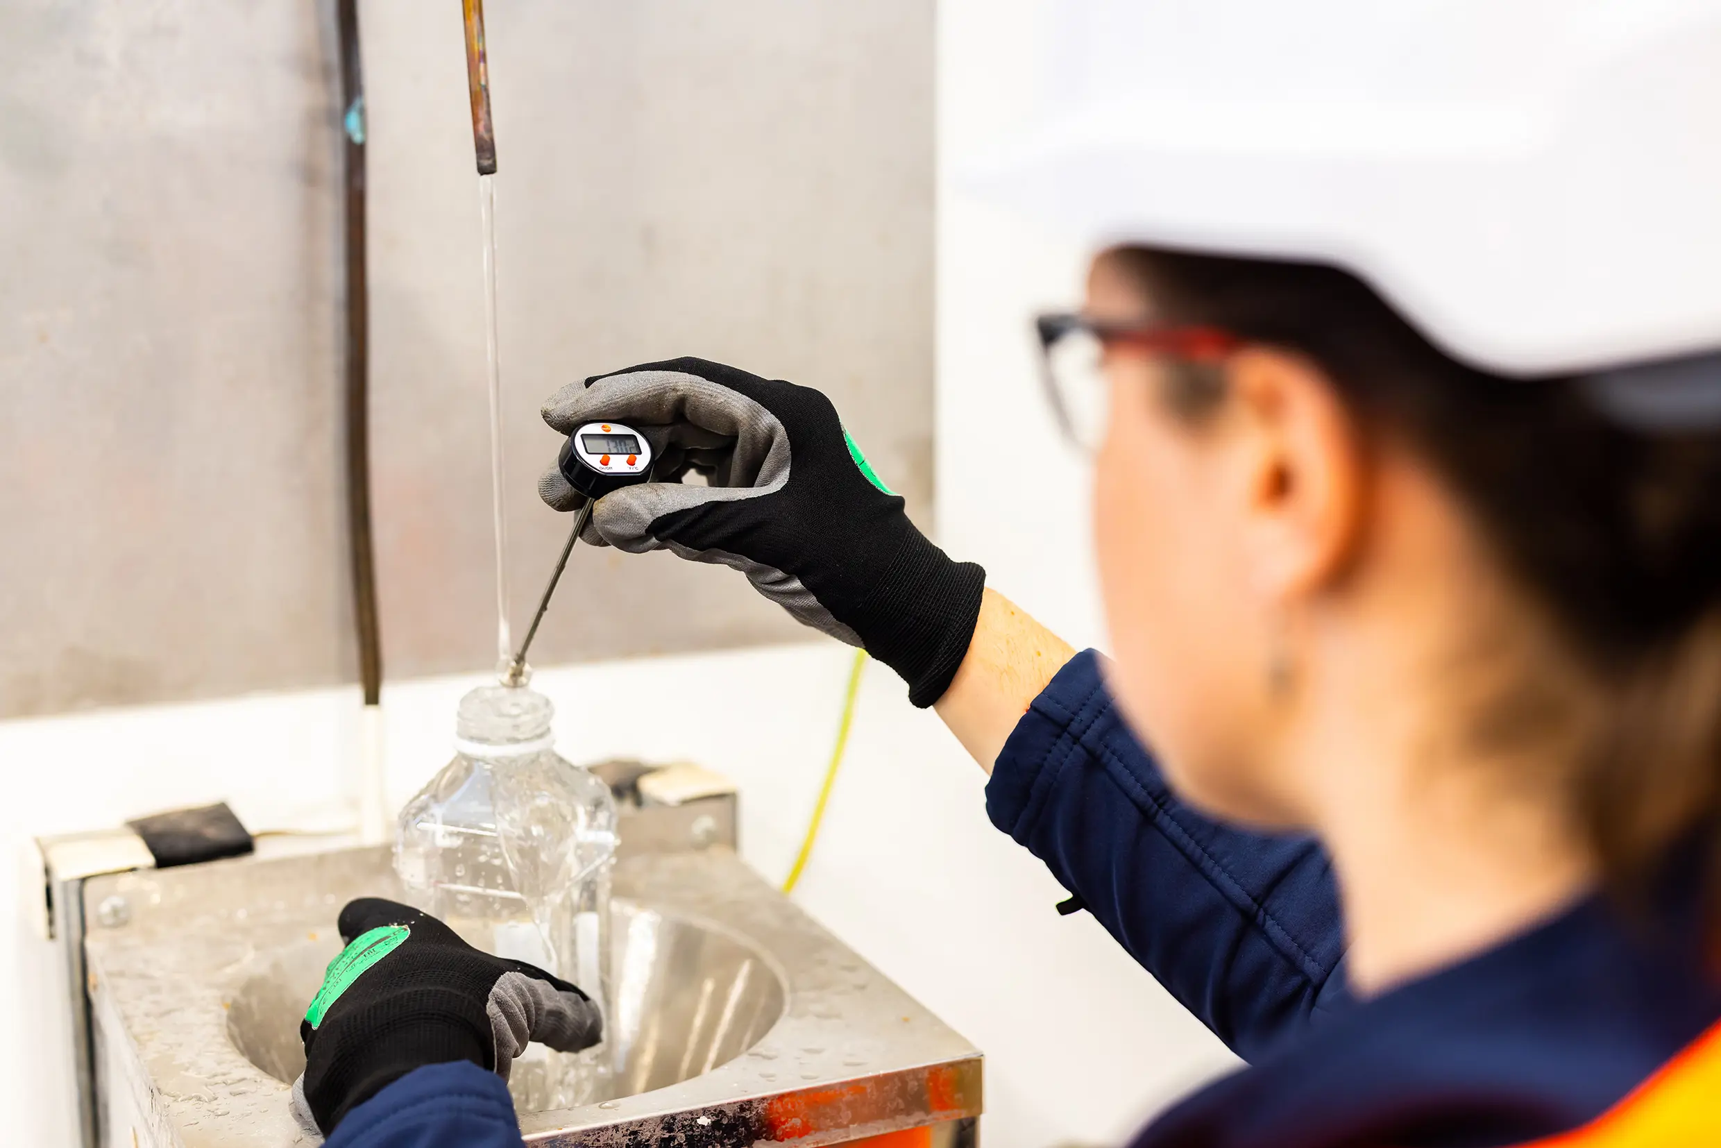
[{"label": "large smooth grey wall panel behind the two vertical pipes", "polygon": [[[513,613],[558,386],[676,355],[830,391],[931,497],[931,0],[509,0]],[[14,0],[0,38],[0,716],[351,680],[332,0]],[[360,5],[386,671],[494,664],[454,0]],[[540,661],[799,637],[721,570],[577,552]],[[575,609],[575,597],[590,606]]]}]

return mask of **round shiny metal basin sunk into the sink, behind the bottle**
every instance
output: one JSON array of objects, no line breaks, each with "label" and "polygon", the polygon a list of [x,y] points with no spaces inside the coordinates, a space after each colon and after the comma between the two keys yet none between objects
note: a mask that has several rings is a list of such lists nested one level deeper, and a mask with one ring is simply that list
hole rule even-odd
[{"label": "round shiny metal basin sunk into the sink, behind the bottle", "polygon": [[[626,900],[611,904],[611,923],[618,1095],[666,1088],[728,1064],[781,1019],[783,972],[723,926]],[[327,929],[260,954],[224,1000],[227,1038],[277,1081],[291,1084],[305,1071],[299,1019],[337,952],[341,940]]]}]

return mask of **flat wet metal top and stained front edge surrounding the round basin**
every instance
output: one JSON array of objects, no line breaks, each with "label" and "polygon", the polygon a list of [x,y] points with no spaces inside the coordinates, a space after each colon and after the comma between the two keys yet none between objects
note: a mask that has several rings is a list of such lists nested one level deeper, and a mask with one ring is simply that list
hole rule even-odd
[{"label": "flat wet metal top and stained front edge surrounding the round basin", "polygon": [[[294,878],[299,869],[310,876],[298,873]],[[315,878],[317,873],[324,878]],[[117,1057],[117,1071],[129,1065],[136,1077],[133,1088],[141,1089],[145,1105],[151,1108],[148,1119],[174,1127],[184,1148],[293,1143],[270,1115],[274,1098],[286,1119],[286,1088],[232,1048],[225,1040],[225,1024],[219,1021],[217,997],[229,991],[231,974],[241,964],[234,955],[246,955],[244,947],[227,938],[231,943],[225,948],[217,945],[220,952],[207,954],[201,966],[193,962],[163,969],[157,960],[151,967],[150,945],[163,923],[203,914],[198,919],[208,926],[208,917],[217,912],[213,902],[219,898],[205,890],[198,900],[194,890],[224,880],[246,880],[251,883],[248,888],[262,888],[265,897],[268,881],[286,881],[289,892],[306,886],[334,890],[320,898],[327,902],[322,909],[332,926],[336,900],[346,892],[379,892],[386,878],[392,880],[386,849],[344,849],[86,881],[88,919],[95,921],[96,907],[112,897],[133,905],[124,928],[88,935],[86,960],[93,1028],[127,1038],[107,1040],[108,1048],[102,1055],[107,1060]],[[785,981],[783,1014],[752,1050],[688,1081],[606,1105],[523,1114],[521,1131],[528,1141],[597,1146],[682,1136],[695,1146],[795,1139],[811,1148],[848,1139],[860,1131],[895,1131],[979,1114],[979,1052],[728,849],[625,857],[616,869],[616,893],[654,910],[700,917],[776,962],[774,971]],[[305,905],[282,909],[275,902],[279,921],[272,917],[274,924],[267,928],[291,928],[294,912],[305,910]],[[241,910],[231,912],[243,916]],[[163,993],[176,990],[193,1012],[193,1002],[201,1002],[205,1014],[213,1010],[219,1043],[231,1052],[231,1059],[215,1057],[220,1064],[201,1076],[174,1062],[176,1053],[184,1059],[184,1048],[163,1043],[160,1003]],[[253,1136],[237,1127],[241,1120],[213,1119],[217,1110],[239,1115],[241,1108],[255,1122],[274,1126],[275,1134],[263,1129]],[[217,1133],[217,1126],[224,1124],[229,1127]]]}]

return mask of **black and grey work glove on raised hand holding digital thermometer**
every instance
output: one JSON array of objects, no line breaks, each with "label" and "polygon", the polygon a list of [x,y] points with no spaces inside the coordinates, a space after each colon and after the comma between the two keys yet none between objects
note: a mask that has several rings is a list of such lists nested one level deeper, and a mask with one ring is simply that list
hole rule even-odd
[{"label": "black and grey work glove on raised hand holding digital thermometer", "polygon": [[[909,522],[828,398],[678,358],[570,384],[544,404],[564,435],[606,418],[651,439],[652,482],[601,497],[583,540],[733,566],[805,625],[900,673],[916,706],[943,695],[986,571]],[[682,484],[688,470],[709,485]],[[556,468],[539,494],[556,509],[585,503]]]}]

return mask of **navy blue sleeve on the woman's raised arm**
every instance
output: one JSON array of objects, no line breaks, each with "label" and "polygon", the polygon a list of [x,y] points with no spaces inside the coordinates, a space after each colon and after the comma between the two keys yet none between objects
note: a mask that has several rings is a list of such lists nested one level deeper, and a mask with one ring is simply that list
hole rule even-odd
[{"label": "navy blue sleeve on the woman's raised arm", "polygon": [[1232,830],[1177,800],[1093,651],[1005,742],[986,812],[1244,1060],[1349,1002],[1327,855],[1306,836]]}]

